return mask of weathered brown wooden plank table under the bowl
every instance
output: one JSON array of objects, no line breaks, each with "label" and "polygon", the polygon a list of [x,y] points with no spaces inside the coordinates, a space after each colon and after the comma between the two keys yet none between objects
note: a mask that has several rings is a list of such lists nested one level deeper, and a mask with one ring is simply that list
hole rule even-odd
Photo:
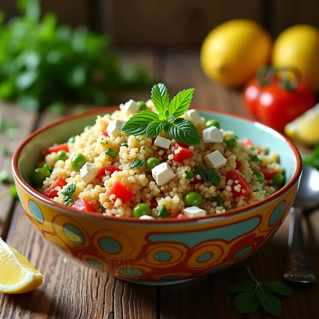
[{"label": "weathered brown wooden plank table under the bowl", "polygon": [[[125,55],[124,60],[138,58],[170,90],[170,95],[195,87],[193,105],[247,115],[241,92],[226,90],[209,81],[201,71],[198,52],[143,52]],[[135,95],[124,94],[123,101]],[[149,93],[138,95],[146,99]],[[0,106],[0,114],[19,122],[16,138],[0,133],[0,145],[12,153],[34,129],[56,120],[48,113],[26,113],[12,105]],[[71,112],[69,110],[69,112]],[[0,154],[0,170],[10,170],[11,156]],[[0,193],[7,189],[0,185]],[[319,278],[319,210],[306,223],[308,249],[315,276]],[[259,281],[279,280],[287,260],[289,218],[271,240],[248,263]],[[0,318],[271,318],[262,310],[241,315],[234,307],[234,296],[226,292],[231,283],[248,279],[241,268],[201,278],[190,283],[151,287],[133,285],[103,273],[82,267],[59,254],[31,225],[18,200],[0,202],[0,236],[24,254],[43,273],[43,285],[23,295],[0,293]],[[282,299],[282,318],[319,318],[319,288],[292,287],[293,295]]]}]

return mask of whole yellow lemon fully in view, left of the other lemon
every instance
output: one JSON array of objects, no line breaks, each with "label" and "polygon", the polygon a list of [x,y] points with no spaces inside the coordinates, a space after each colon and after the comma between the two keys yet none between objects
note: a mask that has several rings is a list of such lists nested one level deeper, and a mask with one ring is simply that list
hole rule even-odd
[{"label": "whole yellow lemon fully in view, left of the other lemon", "polygon": [[271,37],[256,22],[236,19],[214,28],[205,38],[200,61],[208,78],[240,86],[269,61]]}]

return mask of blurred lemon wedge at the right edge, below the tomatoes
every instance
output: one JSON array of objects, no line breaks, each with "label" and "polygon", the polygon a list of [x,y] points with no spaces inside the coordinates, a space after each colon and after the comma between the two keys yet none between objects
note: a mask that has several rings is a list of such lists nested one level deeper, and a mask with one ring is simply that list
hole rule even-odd
[{"label": "blurred lemon wedge at the right edge, below the tomatoes", "polygon": [[319,103],[285,126],[285,134],[307,145],[319,142]]}]

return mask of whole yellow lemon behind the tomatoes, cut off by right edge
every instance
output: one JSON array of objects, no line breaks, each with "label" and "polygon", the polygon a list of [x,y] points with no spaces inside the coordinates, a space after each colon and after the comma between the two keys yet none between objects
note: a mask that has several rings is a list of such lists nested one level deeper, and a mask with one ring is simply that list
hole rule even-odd
[{"label": "whole yellow lemon behind the tomatoes, cut off by right edge", "polygon": [[296,25],[280,33],[274,43],[272,63],[297,68],[302,80],[313,90],[319,90],[319,30]]}]

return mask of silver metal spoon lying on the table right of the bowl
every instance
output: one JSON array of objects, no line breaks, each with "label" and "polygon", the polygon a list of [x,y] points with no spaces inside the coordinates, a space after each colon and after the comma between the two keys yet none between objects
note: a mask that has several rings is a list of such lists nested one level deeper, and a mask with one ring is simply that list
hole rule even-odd
[{"label": "silver metal spoon lying on the table right of the bowl", "polygon": [[314,283],[306,246],[303,239],[301,220],[303,210],[311,210],[319,205],[319,171],[312,166],[303,165],[299,187],[293,207],[288,239],[288,264],[284,278],[286,280]]}]

